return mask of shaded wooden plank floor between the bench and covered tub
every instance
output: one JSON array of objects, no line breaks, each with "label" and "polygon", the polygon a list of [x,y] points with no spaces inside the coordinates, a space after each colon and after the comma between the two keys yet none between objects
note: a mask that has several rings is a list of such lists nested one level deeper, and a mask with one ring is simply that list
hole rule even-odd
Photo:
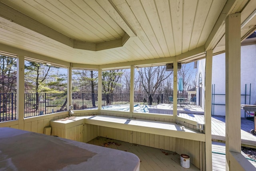
[{"label": "shaded wooden plank floor between the bench and covered tub", "polygon": [[[180,155],[172,151],[161,150],[144,145],[137,145],[118,140],[98,137],[91,140],[90,144],[102,145],[108,142],[119,143],[111,144],[108,148],[118,149],[134,153],[140,159],[140,171],[199,171],[197,167],[190,163],[190,168],[185,169],[180,165]],[[168,154],[168,155],[167,155]]]}]

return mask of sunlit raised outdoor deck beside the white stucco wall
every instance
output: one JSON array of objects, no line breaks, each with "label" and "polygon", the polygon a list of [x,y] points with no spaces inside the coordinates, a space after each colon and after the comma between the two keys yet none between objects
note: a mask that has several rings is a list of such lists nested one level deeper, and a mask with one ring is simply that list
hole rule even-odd
[{"label": "sunlit raised outdoor deck beside the white stucco wall", "polygon": [[[204,115],[199,114],[179,114],[182,118],[204,122]],[[243,145],[249,145],[256,148],[256,134],[251,134],[254,128],[254,122],[241,118],[241,141]],[[225,116],[212,116],[212,140],[225,141],[226,124]]]}]

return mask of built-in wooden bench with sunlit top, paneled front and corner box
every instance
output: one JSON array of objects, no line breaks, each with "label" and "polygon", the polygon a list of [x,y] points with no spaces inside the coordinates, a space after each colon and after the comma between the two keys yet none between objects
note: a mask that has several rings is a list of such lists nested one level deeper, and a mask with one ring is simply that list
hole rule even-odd
[{"label": "built-in wooden bench with sunlit top, paneled front and corner box", "polygon": [[[204,159],[205,134],[173,122],[108,115],[76,116],[50,121],[52,136],[89,142],[101,136],[137,145],[188,154],[200,168]],[[95,140],[97,141],[97,139]]]}]

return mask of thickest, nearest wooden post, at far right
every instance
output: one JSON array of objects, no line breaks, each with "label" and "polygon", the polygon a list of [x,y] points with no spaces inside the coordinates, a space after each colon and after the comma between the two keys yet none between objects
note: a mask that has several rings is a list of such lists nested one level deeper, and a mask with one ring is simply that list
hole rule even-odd
[{"label": "thickest, nearest wooden post, at far right", "polygon": [[230,151],[241,153],[240,66],[241,14],[226,19],[226,170],[230,170]]}]

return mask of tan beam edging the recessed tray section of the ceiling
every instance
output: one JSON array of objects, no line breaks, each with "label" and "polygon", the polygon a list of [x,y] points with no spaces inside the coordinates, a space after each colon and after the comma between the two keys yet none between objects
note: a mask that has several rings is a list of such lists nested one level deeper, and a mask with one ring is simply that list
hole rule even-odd
[{"label": "tan beam edging the recessed tray section of the ceiling", "polygon": [[[115,8],[112,7],[112,9]],[[113,14],[115,14],[116,20],[120,22],[118,24],[121,25],[121,28],[124,29],[124,31],[128,31],[128,33],[125,33],[121,39],[104,41],[100,43],[91,43],[74,40],[0,2],[0,17],[9,20],[10,22],[14,22],[24,28],[35,31],[36,33],[49,37],[50,39],[54,39],[60,43],[63,43],[64,45],[73,47],[74,49],[83,49],[89,51],[100,51],[104,49],[122,47],[130,37],[136,36],[134,31],[130,29],[130,26],[126,24],[127,22],[124,21],[121,16],[118,16],[121,15],[119,12],[114,12]]]}]

